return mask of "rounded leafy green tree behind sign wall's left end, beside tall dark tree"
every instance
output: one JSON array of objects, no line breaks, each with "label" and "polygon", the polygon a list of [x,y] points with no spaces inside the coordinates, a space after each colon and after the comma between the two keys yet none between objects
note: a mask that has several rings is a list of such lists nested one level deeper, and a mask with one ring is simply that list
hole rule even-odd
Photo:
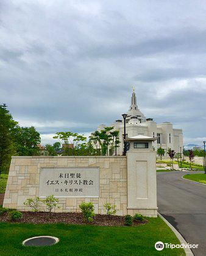
[{"label": "rounded leafy green tree behind sign wall's left end, beside tall dark tree", "polygon": [[16,126],[12,131],[16,144],[16,153],[18,155],[40,155],[41,143],[40,133],[35,130],[34,126],[20,127]]}]

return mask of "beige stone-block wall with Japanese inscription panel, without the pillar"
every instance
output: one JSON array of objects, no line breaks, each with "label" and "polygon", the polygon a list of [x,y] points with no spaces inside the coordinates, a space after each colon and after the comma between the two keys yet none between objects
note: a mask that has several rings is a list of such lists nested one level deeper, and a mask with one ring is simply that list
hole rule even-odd
[{"label": "beige stone-block wall with Japanese inscription panel, without the pillar", "polygon": [[[70,183],[71,180],[77,180],[77,184],[71,184],[69,187],[68,183],[64,183],[60,187],[60,184],[63,184],[60,182],[65,180],[66,183],[69,180]],[[87,180],[87,184],[93,181],[93,185],[82,186],[83,180]],[[55,191],[56,188],[59,191]],[[66,188],[78,188],[78,192],[75,191],[73,196],[74,192],[60,191]],[[80,188],[82,192],[79,191]],[[60,193],[63,193],[63,196],[60,196]],[[116,205],[117,215],[126,215],[127,158],[12,157],[4,207],[30,210],[24,205],[27,198],[49,194],[59,197],[60,208],[56,208],[56,212],[79,212],[81,202],[93,202],[95,212],[105,214],[103,205],[111,202]]]}]

